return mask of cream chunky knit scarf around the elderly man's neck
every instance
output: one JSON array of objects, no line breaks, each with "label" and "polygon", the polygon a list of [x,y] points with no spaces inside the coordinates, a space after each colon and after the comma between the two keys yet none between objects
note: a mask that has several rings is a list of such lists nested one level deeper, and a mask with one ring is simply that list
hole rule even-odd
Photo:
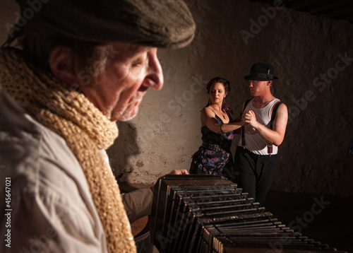
[{"label": "cream chunky knit scarf around the elderly man's neck", "polygon": [[118,184],[100,155],[118,136],[114,122],[81,93],[28,66],[15,49],[0,52],[1,86],[36,119],[65,139],[90,187],[109,252],[136,252]]}]

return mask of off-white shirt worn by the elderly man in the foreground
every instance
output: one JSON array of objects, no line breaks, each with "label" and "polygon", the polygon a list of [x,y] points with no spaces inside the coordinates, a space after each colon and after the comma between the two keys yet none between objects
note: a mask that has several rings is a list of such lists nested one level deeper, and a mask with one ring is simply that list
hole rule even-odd
[{"label": "off-white shirt worn by the elderly man in the foreground", "polygon": [[[4,199],[6,193],[11,201]],[[75,155],[64,139],[36,122],[4,90],[0,194],[0,252],[107,252],[102,223]]]}]

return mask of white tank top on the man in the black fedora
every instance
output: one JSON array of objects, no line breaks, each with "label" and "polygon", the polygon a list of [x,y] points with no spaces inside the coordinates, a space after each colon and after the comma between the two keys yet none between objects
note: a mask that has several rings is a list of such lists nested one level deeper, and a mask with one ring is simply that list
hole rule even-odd
[{"label": "white tank top on the man in the black fedora", "polygon": [[[253,107],[253,100],[250,100],[248,102],[248,105],[246,105],[245,110],[252,110],[253,112],[255,112],[256,114],[256,120],[260,123],[265,125],[266,127],[270,128],[270,121],[271,121],[271,109],[273,107],[273,105],[275,105],[275,103],[277,101],[279,101],[278,98],[275,98],[274,100],[272,100],[271,102],[268,103],[268,105],[266,105],[265,107],[258,109]],[[244,127],[244,134],[245,134],[245,144],[246,144],[246,148],[253,152],[256,153],[257,155],[268,155],[268,145],[270,145],[270,143],[268,143],[267,141],[265,141],[265,139],[263,139],[263,137],[258,134],[258,132],[256,131],[256,129],[254,129],[253,127],[251,127],[251,125],[246,125]],[[241,139],[239,140],[239,146],[241,145]],[[278,147],[273,145],[273,152],[272,154],[275,155],[277,154],[278,151]]]}]

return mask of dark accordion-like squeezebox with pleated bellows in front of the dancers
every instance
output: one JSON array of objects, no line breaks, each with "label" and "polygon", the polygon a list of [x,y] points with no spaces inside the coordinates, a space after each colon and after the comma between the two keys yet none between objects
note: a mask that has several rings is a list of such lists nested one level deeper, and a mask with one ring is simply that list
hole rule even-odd
[{"label": "dark accordion-like squeezebox with pleated bellows in front of the dancers", "polygon": [[160,253],[337,252],[280,223],[225,177],[160,177],[149,222]]}]

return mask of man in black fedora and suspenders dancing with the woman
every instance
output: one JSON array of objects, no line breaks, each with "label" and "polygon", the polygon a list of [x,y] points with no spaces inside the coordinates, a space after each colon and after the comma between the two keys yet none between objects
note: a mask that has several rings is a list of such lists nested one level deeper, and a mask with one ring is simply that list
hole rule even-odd
[{"label": "man in black fedora and suspenders dancing with the woman", "polygon": [[277,170],[278,146],[285,137],[287,106],[271,93],[274,69],[270,64],[251,66],[249,81],[251,100],[243,105],[241,119],[248,125],[241,129],[241,139],[234,158],[236,178],[243,192],[263,205]]}]

